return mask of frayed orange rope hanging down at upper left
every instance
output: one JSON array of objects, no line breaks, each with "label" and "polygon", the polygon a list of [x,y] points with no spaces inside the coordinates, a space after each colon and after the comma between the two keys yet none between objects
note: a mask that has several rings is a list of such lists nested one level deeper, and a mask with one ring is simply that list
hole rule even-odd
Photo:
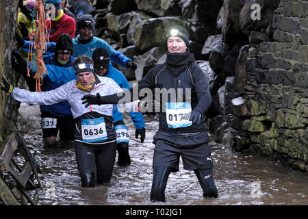
[{"label": "frayed orange rope hanging down at upper left", "polygon": [[[41,92],[40,86],[42,85],[43,75],[47,73],[47,68],[42,60],[43,54],[47,51],[46,42],[49,42],[49,33],[47,32],[47,37],[45,37],[45,31],[47,31],[47,23],[45,19],[44,12],[44,4],[42,0],[36,0],[36,21],[34,22],[36,25],[36,30],[34,34],[30,35],[30,44],[29,44],[29,53],[28,53],[28,62],[31,60],[30,68],[28,66],[28,76],[29,71],[31,70],[33,60],[33,51],[36,50],[36,66],[37,71],[34,75],[34,79],[36,79],[36,91]],[[36,41],[36,42],[34,42]]]}]

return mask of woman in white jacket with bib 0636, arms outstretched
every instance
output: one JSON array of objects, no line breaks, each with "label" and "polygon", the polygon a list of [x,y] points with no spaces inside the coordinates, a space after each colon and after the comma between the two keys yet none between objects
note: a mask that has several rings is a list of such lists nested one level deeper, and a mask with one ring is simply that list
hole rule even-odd
[{"label": "woman in white jacket with bib 0636, arms outstretched", "polygon": [[[29,92],[13,88],[3,77],[1,90],[10,93],[16,101],[34,105],[51,105],[68,101],[75,119],[75,155],[83,187],[94,187],[94,169],[97,167],[97,183],[108,183],[112,176],[116,157],[116,131],[112,119],[114,105],[90,105],[84,107],[81,97],[85,94],[109,95],[123,91],[107,77],[94,74],[93,61],[80,56],[73,63],[77,80],[47,92]],[[129,112],[138,110],[138,102],[127,103]],[[135,110],[136,109],[136,110]]]}]

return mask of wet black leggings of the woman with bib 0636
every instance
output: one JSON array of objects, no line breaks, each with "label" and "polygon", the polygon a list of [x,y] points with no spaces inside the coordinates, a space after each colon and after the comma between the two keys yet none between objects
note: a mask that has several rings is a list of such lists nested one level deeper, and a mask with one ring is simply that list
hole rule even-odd
[{"label": "wet black leggings of the woman with bib 0636", "polygon": [[82,187],[94,187],[95,167],[97,183],[110,181],[116,159],[116,142],[94,145],[75,141],[75,155]]}]

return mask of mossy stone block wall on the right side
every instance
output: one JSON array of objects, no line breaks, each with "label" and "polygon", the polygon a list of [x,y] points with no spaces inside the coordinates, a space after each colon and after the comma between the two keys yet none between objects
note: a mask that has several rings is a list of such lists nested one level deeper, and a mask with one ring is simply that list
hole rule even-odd
[{"label": "mossy stone block wall on the right side", "polygon": [[272,40],[240,49],[229,103],[235,151],[255,151],[308,168],[308,1],[281,0]]}]

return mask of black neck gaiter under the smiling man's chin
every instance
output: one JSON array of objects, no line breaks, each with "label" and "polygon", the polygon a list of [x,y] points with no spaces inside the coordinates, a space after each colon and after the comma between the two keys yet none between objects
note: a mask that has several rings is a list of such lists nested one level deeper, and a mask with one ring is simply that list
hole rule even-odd
[{"label": "black neck gaiter under the smiling man's chin", "polygon": [[167,52],[166,64],[174,76],[179,75],[190,62],[194,62],[194,55],[189,50],[185,53]]}]

